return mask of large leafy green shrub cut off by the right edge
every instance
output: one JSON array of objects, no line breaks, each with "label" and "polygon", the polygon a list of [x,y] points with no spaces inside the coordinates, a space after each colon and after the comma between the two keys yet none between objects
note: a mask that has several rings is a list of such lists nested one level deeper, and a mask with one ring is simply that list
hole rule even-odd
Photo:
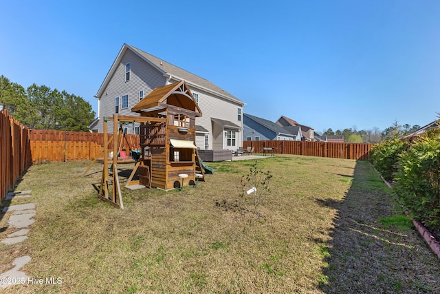
[{"label": "large leafy green shrub cut off by the right edge", "polygon": [[428,227],[440,224],[440,131],[426,132],[399,158],[393,190]]}]

